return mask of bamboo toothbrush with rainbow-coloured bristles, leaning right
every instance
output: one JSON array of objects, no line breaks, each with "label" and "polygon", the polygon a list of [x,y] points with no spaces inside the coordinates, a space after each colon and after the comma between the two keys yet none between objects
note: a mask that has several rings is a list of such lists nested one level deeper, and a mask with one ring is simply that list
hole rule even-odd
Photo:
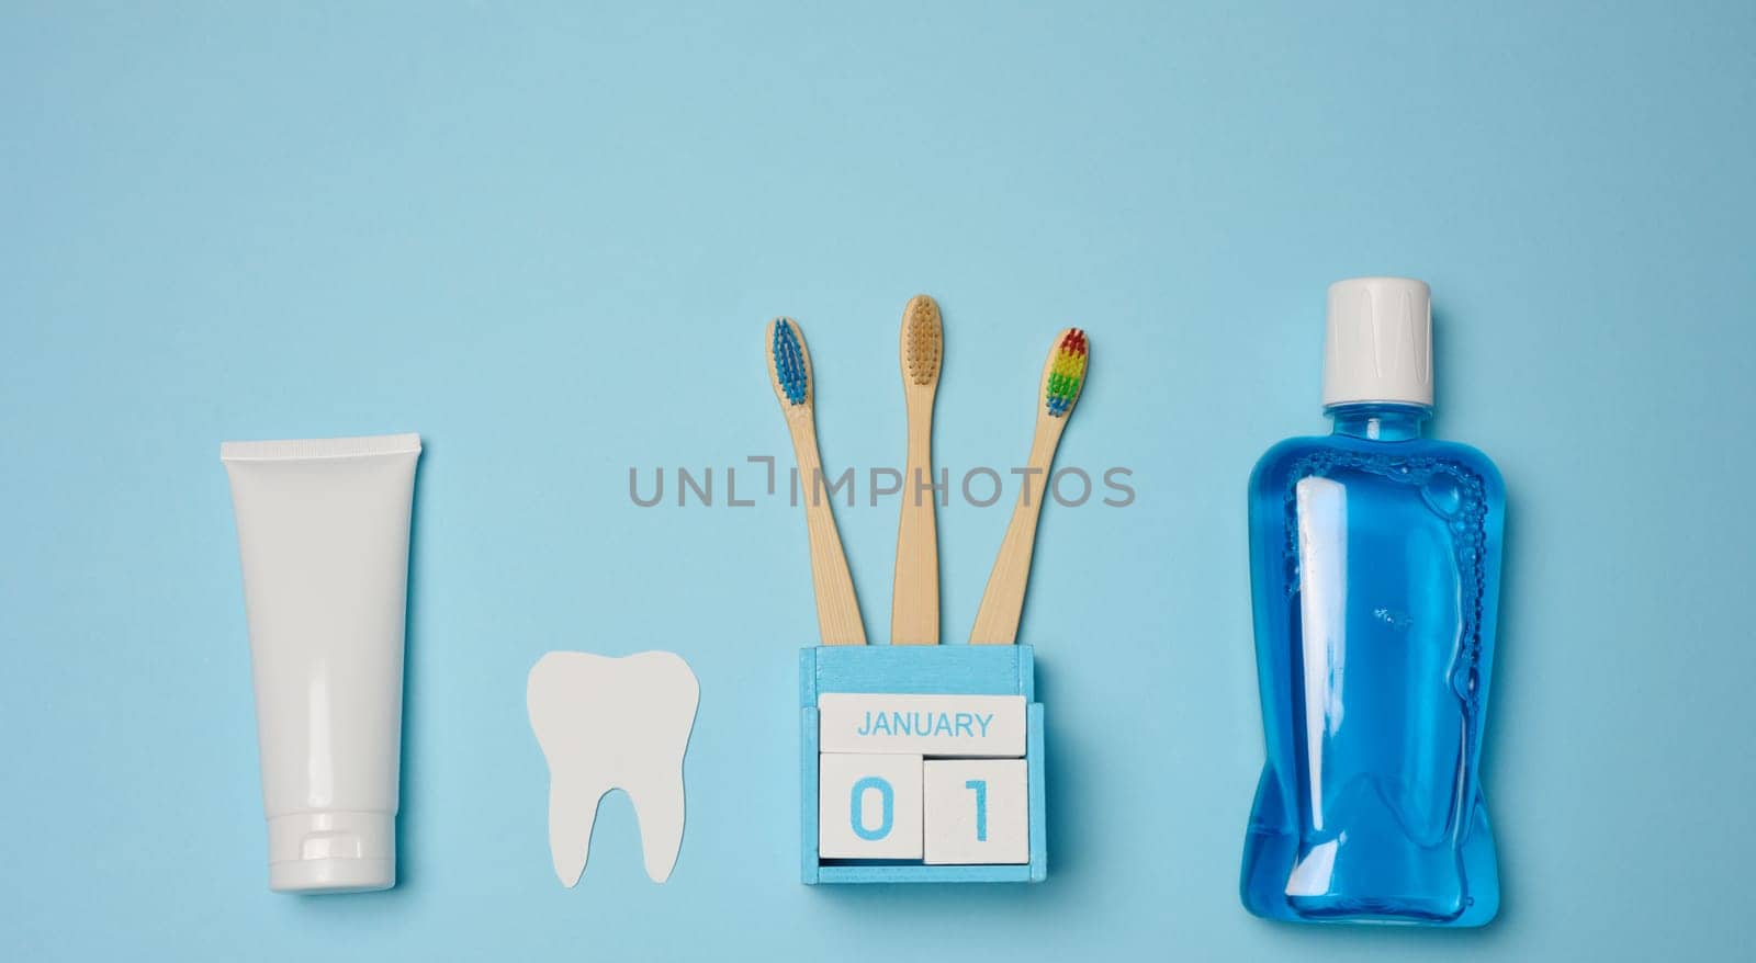
[{"label": "bamboo toothbrush with rainbow-coloured bristles, leaning right", "polygon": [[1068,328],[1055,339],[1055,347],[1043,365],[1043,384],[1038,396],[1036,437],[1031,440],[1029,472],[1018,505],[1011,510],[1011,524],[999,544],[999,558],[989,574],[982,607],[976,609],[976,626],[969,633],[973,646],[1011,646],[1018,640],[1018,616],[1024,612],[1024,589],[1031,581],[1031,549],[1036,544],[1036,517],[1043,512],[1048,495],[1048,470],[1055,461],[1055,446],[1068,426],[1073,402],[1080,400],[1085,384],[1089,346],[1085,332]]}]

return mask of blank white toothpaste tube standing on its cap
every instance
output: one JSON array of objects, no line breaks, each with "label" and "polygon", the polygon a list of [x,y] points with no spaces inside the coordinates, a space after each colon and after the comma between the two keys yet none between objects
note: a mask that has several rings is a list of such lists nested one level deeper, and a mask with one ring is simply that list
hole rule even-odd
[{"label": "blank white toothpaste tube standing on its cap", "polygon": [[269,889],[397,882],[402,630],[420,435],[225,442]]}]

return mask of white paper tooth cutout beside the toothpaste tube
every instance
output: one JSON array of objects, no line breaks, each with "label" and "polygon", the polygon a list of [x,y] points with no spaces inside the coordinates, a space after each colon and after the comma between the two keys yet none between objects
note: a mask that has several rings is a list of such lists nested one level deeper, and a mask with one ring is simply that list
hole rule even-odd
[{"label": "white paper tooth cutout beside the toothpaste tube", "polygon": [[641,824],[646,875],[664,882],[683,845],[683,753],[701,684],[674,653],[550,653],[525,705],[550,767],[550,856],[579,882],[604,793],[622,789]]}]

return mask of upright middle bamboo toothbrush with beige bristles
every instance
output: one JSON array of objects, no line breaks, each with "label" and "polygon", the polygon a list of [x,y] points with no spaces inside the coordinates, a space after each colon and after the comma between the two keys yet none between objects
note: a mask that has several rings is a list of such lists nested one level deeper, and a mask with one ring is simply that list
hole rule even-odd
[{"label": "upright middle bamboo toothbrush with beige bristles", "polygon": [[903,398],[908,402],[908,467],[903,474],[903,517],[896,526],[896,582],[890,588],[890,644],[939,644],[938,493],[922,500],[920,482],[932,484],[932,396],[939,389],[945,328],[939,305],[915,295],[903,309]]}]

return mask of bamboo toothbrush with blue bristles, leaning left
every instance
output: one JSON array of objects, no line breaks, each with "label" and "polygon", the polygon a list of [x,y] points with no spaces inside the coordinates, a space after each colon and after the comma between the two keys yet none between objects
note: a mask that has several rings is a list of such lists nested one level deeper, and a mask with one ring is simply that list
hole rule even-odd
[{"label": "bamboo toothbrush with blue bristles, leaning left", "polygon": [[817,416],[811,398],[811,353],[804,349],[804,332],[792,317],[769,321],[769,381],[780,410],[787,416],[792,451],[799,460],[804,493],[804,528],[811,537],[811,589],[817,595],[817,631],[824,646],[864,646],[866,626],[860,603],[853,598],[848,556],[841,551],[836,516],[824,496],[824,461],[817,454]]}]

